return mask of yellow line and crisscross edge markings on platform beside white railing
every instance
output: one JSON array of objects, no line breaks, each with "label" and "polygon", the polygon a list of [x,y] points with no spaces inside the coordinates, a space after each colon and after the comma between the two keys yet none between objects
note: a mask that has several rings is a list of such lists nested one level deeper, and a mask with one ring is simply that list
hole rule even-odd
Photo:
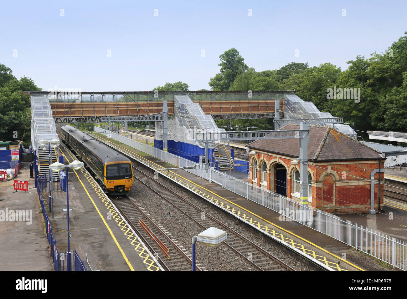
[{"label": "yellow line and crisscross edge markings on platform beside white railing", "polygon": [[[319,260],[319,261],[321,261],[321,262],[324,262],[327,266],[329,266],[329,267],[331,267],[331,268],[334,268],[335,270],[338,270],[338,271],[348,271],[348,270],[346,270],[346,269],[340,268],[338,264],[328,261],[328,260],[326,259],[326,257],[324,257],[324,256],[322,256],[322,255],[318,255],[318,254],[315,253],[315,251],[313,251],[313,250],[306,249],[306,248],[304,247],[304,245],[299,244],[299,243],[296,243],[294,240],[292,240],[292,239],[290,239],[290,238],[284,237],[282,234],[278,233],[278,232],[275,231],[274,229],[271,229],[271,228],[268,227],[267,225],[263,225],[262,223],[260,223],[260,222],[258,222],[258,221],[256,221],[256,220],[254,220],[253,218],[247,216],[246,214],[240,212],[239,210],[235,210],[234,207],[230,207],[230,205],[227,205],[227,204],[223,203],[222,201],[219,201],[218,199],[215,199],[215,198],[214,198],[213,196],[211,196],[210,194],[206,194],[205,192],[199,190],[198,188],[196,188],[196,187],[194,187],[194,186],[191,186],[189,183],[187,183],[187,182],[185,182],[185,181],[182,181],[181,179],[178,179],[177,177],[181,177],[182,179],[184,179],[184,180],[186,180],[186,181],[192,183],[193,185],[198,186],[199,188],[202,188],[202,189],[204,189],[204,190],[206,190],[206,191],[208,191],[208,192],[214,194],[215,196],[217,196],[217,197],[219,197],[219,198],[221,198],[221,199],[223,199],[223,200],[229,202],[230,204],[235,205],[236,207],[239,207],[239,208],[245,210],[245,211],[248,212],[249,214],[252,214],[253,216],[256,216],[256,217],[260,218],[261,220],[263,220],[263,221],[265,221],[265,222],[267,222],[267,223],[269,223],[269,224],[271,224],[271,225],[277,227],[278,229],[281,229],[281,230],[283,230],[283,231],[285,231],[285,232],[287,232],[287,233],[289,233],[289,234],[291,234],[291,235],[293,235],[293,236],[295,236],[295,237],[297,237],[297,238],[303,240],[304,242],[307,242],[307,243],[311,244],[312,246],[317,247],[318,249],[320,249],[320,250],[322,250],[322,251],[324,251],[324,252],[326,252],[326,253],[328,253],[328,254],[334,256],[335,258],[339,259],[340,261],[346,262],[346,263],[349,264],[350,266],[353,266],[353,267],[355,267],[355,268],[357,268],[357,269],[359,269],[359,270],[361,270],[361,271],[365,271],[365,270],[363,270],[362,268],[360,268],[360,267],[358,267],[358,266],[352,264],[351,262],[348,262],[347,260],[343,260],[343,259],[340,258],[339,256],[337,256],[337,255],[335,255],[335,254],[333,254],[333,253],[327,251],[326,249],[324,249],[324,248],[318,246],[317,244],[314,244],[313,242],[311,242],[311,241],[309,241],[309,240],[306,240],[306,239],[302,238],[301,236],[298,236],[298,235],[294,234],[293,232],[291,232],[291,231],[289,231],[289,230],[287,230],[287,229],[284,229],[284,228],[282,228],[282,227],[280,227],[280,226],[278,226],[278,225],[276,225],[276,224],[274,224],[274,223],[271,223],[269,220],[264,219],[264,218],[262,218],[262,217],[260,217],[260,216],[258,216],[258,215],[256,215],[256,214],[254,214],[253,212],[251,212],[251,211],[245,209],[244,207],[241,207],[241,206],[237,205],[236,203],[232,203],[231,201],[228,201],[228,199],[225,199],[225,198],[223,198],[222,196],[219,196],[218,194],[216,194],[216,193],[214,193],[214,192],[212,192],[212,191],[210,191],[210,190],[208,190],[208,189],[206,189],[206,188],[204,188],[204,187],[198,185],[197,183],[194,183],[193,181],[190,181],[190,180],[188,180],[188,179],[182,177],[181,175],[178,175],[177,173],[175,173],[175,172],[173,172],[173,171],[171,171],[171,170],[170,170],[170,171],[166,171],[166,170],[157,169],[156,166],[159,166],[160,168],[164,168],[164,167],[161,166],[161,165],[159,165],[159,164],[157,164],[157,163],[155,163],[155,162],[152,162],[152,161],[150,161],[150,160],[148,160],[148,159],[145,159],[144,157],[142,157],[142,156],[140,156],[140,155],[134,153],[133,151],[130,151],[130,150],[124,149],[124,148],[119,148],[117,144],[114,144],[114,143],[110,142],[109,140],[104,139],[103,137],[99,137],[99,136],[97,136],[97,137],[100,138],[100,139],[103,139],[103,140],[105,140],[105,141],[107,141],[107,142],[109,142],[110,144],[112,144],[112,146],[113,146],[114,148],[117,148],[118,150],[120,150],[120,151],[122,151],[122,152],[125,152],[125,153],[127,152],[127,154],[133,153],[134,155],[136,155],[136,156],[138,156],[138,157],[135,157],[134,155],[131,155],[131,154],[130,154],[130,155],[133,156],[134,159],[136,159],[137,161],[139,161],[139,162],[141,162],[141,163],[143,163],[143,164],[145,164],[145,165],[147,165],[147,166],[149,166],[149,167],[151,167],[151,168],[153,168],[153,169],[155,169],[155,170],[157,170],[157,171],[162,172],[162,173],[163,173],[164,175],[166,175],[167,177],[170,177],[171,179],[174,179],[175,181],[179,182],[179,183],[182,184],[183,186],[186,186],[188,189],[197,192],[197,193],[200,194],[201,196],[204,196],[205,198],[209,199],[210,201],[216,203],[217,205],[219,205],[219,206],[225,208],[226,210],[229,210],[230,212],[232,212],[233,214],[236,214],[236,215],[239,216],[240,218],[242,218],[242,219],[248,221],[249,223],[251,223],[251,224],[253,224],[253,225],[256,225],[258,228],[262,229],[263,231],[266,231],[267,233],[269,233],[269,234],[271,234],[271,235],[273,235],[273,236],[279,238],[280,240],[282,240],[282,241],[284,241],[284,242],[290,244],[291,246],[293,246],[293,247],[295,247],[295,248],[297,248],[297,249],[302,250],[302,252],[304,252],[304,253],[306,253],[306,254],[308,254],[308,255],[311,255],[313,258],[315,258],[315,259],[317,259],[317,260]],[[146,161],[148,161],[148,162],[150,162],[150,163],[152,163],[152,164],[155,164],[156,166],[154,166],[154,165],[152,165],[152,164],[149,164],[149,163],[145,163]],[[171,175],[169,172],[173,173],[173,175]],[[175,175],[175,176],[174,176],[174,175]]]}]

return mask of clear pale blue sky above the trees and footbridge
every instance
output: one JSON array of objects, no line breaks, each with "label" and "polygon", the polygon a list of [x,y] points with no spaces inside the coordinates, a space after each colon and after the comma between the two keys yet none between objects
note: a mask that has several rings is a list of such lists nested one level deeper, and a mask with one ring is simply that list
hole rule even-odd
[{"label": "clear pale blue sky above the trees and footbridge", "polygon": [[344,70],[404,35],[406,11],[405,0],[2,1],[0,63],[44,90],[139,91],[175,81],[209,89],[219,55],[232,47],[257,71],[293,61]]}]

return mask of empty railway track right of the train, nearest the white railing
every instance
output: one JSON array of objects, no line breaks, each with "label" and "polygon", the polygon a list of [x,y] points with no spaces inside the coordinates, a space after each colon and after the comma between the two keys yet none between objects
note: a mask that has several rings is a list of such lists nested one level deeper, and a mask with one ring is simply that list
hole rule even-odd
[{"label": "empty railway track right of the train, nearest the white railing", "polygon": [[254,244],[245,236],[239,234],[237,231],[212,217],[210,214],[201,210],[199,207],[190,201],[179,196],[163,184],[159,183],[153,177],[138,170],[133,166],[134,179],[138,179],[145,186],[150,188],[153,192],[161,196],[165,201],[173,205],[177,210],[185,214],[188,218],[193,220],[203,229],[209,227],[216,227],[227,231],[228,239],[223,242],[227,247],[232,249],[236,254],[244,258],[249,264],[259,271],[295,271],[289,265],[285,264],[282,260],[278,259],[271,253],[265,251],[263,248]]}]

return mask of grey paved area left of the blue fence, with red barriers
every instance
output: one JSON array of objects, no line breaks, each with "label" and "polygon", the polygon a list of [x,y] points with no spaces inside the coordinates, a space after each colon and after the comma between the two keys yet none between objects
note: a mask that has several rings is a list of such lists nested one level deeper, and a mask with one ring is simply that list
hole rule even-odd
[{"label": "grey paved area left of the blue fence, with red barriers", "polygon": [[28,211],[25,221],[0,222],[0,271],[53,271],[35,181],[28,162],[20,167],[16,179],[30,183],[27,192],[14,192],[13,180],[0,181],[0,211]]}]

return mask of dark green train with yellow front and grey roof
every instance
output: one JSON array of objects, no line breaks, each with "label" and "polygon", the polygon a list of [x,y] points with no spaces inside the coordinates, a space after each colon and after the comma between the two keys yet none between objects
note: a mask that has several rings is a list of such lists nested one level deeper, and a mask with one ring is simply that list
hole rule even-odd
[{"label": "dark green train with yellow front and grey roof", "polygon": [[61,138],[93,172],[105,191],[120,195],[130,190],[133,168],[129,158],[69,125],[61,127]]}]

